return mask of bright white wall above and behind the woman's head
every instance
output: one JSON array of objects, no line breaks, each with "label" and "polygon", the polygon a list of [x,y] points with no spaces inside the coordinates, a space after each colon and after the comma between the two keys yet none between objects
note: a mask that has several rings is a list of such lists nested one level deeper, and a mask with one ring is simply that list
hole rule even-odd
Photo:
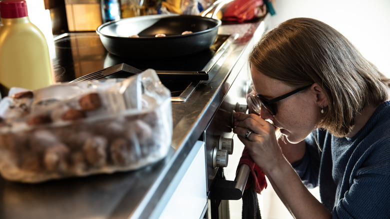
[{"label": "bright white wall above and behind the woman's head", "polygon": [[274,7],[272,26],[292,17],[319,19],[390,77],[390,0],[274,0]]}]

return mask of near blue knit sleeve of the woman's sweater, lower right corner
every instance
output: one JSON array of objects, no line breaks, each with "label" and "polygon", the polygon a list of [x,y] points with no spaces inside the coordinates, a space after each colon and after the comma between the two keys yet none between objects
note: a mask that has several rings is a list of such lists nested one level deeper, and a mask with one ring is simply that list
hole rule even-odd
[{"label": "near blue knit sleeve of the woman's sweater, lower right corner", "polygon": [[333,218],[390,218],[390,139],[378,140],[361,152],[350,166],[349,182],[341,185],[345,192],[339,194]]}]

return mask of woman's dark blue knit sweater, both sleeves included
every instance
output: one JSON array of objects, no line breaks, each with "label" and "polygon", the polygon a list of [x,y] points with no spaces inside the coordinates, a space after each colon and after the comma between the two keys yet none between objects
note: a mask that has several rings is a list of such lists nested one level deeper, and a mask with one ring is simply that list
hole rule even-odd
[{"label": "woman's dark blue knit sweater, both sleeves included", "polygon": [[352,138],[318,129],[305,140],[292,167],[307,187],[319,186],[333,218],[390,218],[390,101]]}]

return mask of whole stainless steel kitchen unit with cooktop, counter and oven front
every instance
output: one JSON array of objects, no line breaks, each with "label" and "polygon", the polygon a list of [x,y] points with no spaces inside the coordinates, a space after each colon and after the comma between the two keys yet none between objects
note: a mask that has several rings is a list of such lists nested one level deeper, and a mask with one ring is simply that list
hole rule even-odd
[{"label": "whole stainless steel kitchen unit with cooktop, counter and oven front", "polygon": [[[247,55],[265,31],[265,19],[222,24],[215,43],[183,57],[123,59],[108,53],[94,32],[55,38],[55,80],[72,81],[123,67],[158,71],[205,71],[207,80],[161,79],[171,90],[173,136],[167,156],[136,171],[54,180],[36,185],[0,178],[1,218],[228,218],[228,199],[239,199],[248,169],[224,178],[229,157],[240,157],[232,140],[232,112],[246,111],[250,80]],[[168,51],[167,51],[168,52]],[[235,168],[235,167],[233,167]],[[5,198],[8,197],[8,198]],[[22,210],[20,210],[22,209]]]}]

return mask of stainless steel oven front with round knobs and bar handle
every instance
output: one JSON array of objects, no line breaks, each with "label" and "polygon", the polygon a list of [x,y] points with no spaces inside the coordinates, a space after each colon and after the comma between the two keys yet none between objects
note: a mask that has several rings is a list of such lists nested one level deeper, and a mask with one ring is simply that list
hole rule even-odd
[{"label": "stainless steel oven front with round knobs and bar handle", "polygon": [[[241,66],[235,78],[227,79],[222,84],[221,94],[223,100],[217,108],[204,131],[206,174],[207,174],[207,218],[226,218],[228,208],[224,207],[227,200],[238,200],[249,175],[249,169],[245,166],[237,166],[235,178],[225,178],[223,167],[235,168],[236,163],[229,163],[229,158],[239,159],[242,153],[240,141],[234,141],[232,132],[233,113],[235,111],[246,112],[246,94],[250,89],[247,64]],[[236,145],[236,146],[234,146]],[[235,149],[236,148],[236,149]],[[241,148],[241,149],[240,149]],[[222,214],[222,215],[221,215]],[[228,217],[227,217],[228,218]]]}]

